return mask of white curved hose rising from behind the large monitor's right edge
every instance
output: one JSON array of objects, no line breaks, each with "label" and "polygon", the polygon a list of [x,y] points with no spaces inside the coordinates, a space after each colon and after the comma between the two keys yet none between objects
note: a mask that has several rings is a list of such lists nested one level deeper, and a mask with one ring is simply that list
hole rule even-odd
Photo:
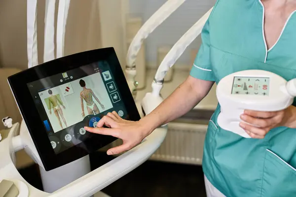
[{"label": "white curved hose rising from behind the large monitor's right edge", "polygon": [[132,40],[127,52],[125,70],[131,92],[136,89],[136,59],[143,41],[184,2],[185,0],[168,0],[167,2],[165,2],[141,27],[139,32]]}]

